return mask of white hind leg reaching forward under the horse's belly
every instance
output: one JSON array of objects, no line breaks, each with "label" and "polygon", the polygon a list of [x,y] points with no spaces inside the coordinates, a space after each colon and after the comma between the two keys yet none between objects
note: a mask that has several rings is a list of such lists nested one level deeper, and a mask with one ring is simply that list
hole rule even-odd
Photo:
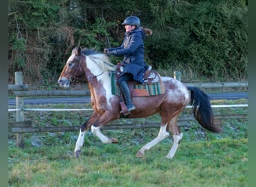
[{"label": "white hind leg reaching forward under the horse's belly", "polygon": [[138,150],[136,157],[144,156],[144,152],[146,150],[149,150],[151,147],[153,147],[154,145],[158,144],[160,141],[168,137],[169,133],[166,132],[166,126],[167,124],[161,125],[157,137],[154,138],[153,141],[150,141],[149,143],[145,144],[140,150]]}]

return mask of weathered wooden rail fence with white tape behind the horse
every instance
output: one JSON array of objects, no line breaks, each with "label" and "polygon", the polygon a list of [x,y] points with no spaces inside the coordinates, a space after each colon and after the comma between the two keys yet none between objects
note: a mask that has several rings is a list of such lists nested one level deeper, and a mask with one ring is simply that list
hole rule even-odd
[{"label": "weathered wooden rail fence with white tape behind the horse", "polygon": [[[176,73],[177,74],[177,73]],[[222,83],[189,83],[185,84],[187,86],[195,86],[198,88],[247,88],[247,82],[222,82]],[[79,91],[28,91],[28,85],[23,85],[22,82],[22,72],[15,73],[15,85],[8,85],[8,90],[13,92],[16,96],[16,108],[8,109],[8,111],[16,111],[16,121],[9,122],[9,131],[16,133],[16,146],[24,147],[24,133],[28,132],[72,132],[79,131],[79,126],[42,126],[35,127],[32,126],[31,121],[24,121],[24,111],[51,111],[51,108],[25,108],[24,107],[24,97],[26,96],[90,96],[88,90]],[[247,107],[244,105],[213,105],[213,107]],[[189,108],[191,106],[187,106]],[[91,108],[87,109],[68,109],[68,108],[55,108],[55,111],[92,111]],[[247,114],[217,114],[216,119],[244,119]],[[188,121],[195,120],[192,116],[180,117],[178,120],[179,126],[188,125]],[[158,123],[136,123],[136,124],[116,124],[110,123],[108,126],[103,126],[102,129],[141,129],[141,128],[155,128],[159,127]]]}]

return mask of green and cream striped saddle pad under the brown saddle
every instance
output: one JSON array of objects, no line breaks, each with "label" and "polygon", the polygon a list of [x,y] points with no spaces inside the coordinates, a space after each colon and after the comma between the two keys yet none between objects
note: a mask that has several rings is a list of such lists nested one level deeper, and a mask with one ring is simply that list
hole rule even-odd
[{"label": "green and cream striped saddle pad under the brown saddle", "polygon": [[[116,96],[120,96],[120,88],[118,86],[118,80],[116,78],[116,73],[112,72],[111,73],[111,84],[112,84],[112,94],[116,95]],[[142,85],[140,83],[134,85],[131,84],[129,85],[130,90],[134,90],[134,89],[138,89],[138,90],[147,90],[149,96],[157,96],[160,95],[162,93],[165,93],[165,88],[162,84],[162,82],[155,82],[155,83],[151,83],[151,84],[145,84]]]}]

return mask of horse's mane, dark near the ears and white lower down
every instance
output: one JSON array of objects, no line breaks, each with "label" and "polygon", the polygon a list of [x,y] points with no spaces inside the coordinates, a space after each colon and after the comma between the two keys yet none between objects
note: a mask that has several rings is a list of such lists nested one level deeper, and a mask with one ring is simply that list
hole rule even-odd
[{"label": "horse's mane, dark near the ears and white lower down", "polygon": [[103,52],[98,52],[95,49],[85,48],[82,49],[82,54],[84,54],[88,58],[87,61],[94,61],[94,63],[103,68],[103,70],[116,70],[115,64],[112,64],[109,56],[104,54]]}]

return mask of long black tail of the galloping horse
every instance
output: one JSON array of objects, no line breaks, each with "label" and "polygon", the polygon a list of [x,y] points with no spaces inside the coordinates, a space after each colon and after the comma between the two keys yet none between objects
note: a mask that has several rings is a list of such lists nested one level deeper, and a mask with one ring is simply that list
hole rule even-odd
[{"label": "long black tail of the galloping horse", "polygon": [[207,94],[195,87],[189,86],[188,90],[191,91],[190,101],[194,117],[198,120],[198,123],[211,132],[221,132],[222,128],[214,123],[213,108]]}]

